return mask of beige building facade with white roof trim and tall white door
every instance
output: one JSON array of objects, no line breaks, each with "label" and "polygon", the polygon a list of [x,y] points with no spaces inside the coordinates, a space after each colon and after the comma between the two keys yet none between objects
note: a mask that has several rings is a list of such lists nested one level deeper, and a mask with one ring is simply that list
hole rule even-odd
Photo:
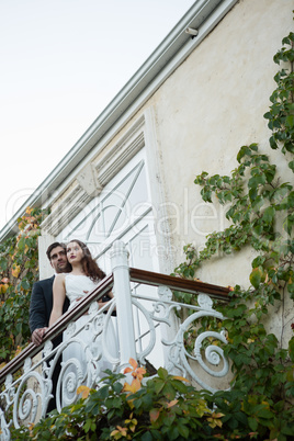
[{"label": "beige building facade with white roof trim and tall white door", "polygon": [[[42,279],[50,274],[45,249],[55,239],[86,241],[105,272],[120,239],[132,267],[169,274],[183,261],[184,245],[201,249],[208,233],[227,226],[225,208],[203,203],[193,182],[203,170],[229,174],[242,145],[258,143],[274,157],[263,114],[278,70],[272,57],[293,27],[293,0],[195,1],[25,203],[50,208],[39,242]],[[199,276],[247,286],[251,253],[215,259]],[[279,329],[279,320],[270,327]]]}]

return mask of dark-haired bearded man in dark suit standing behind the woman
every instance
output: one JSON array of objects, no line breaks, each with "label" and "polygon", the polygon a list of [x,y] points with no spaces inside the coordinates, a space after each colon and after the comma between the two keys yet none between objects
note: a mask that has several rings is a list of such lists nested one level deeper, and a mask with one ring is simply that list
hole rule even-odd
[{"label": "dark-haired bearded man in dark suit standing behind the woman", "polygon": [[[66,246],[64,244],[54,242],[52,244],[47,251],[47,257],[49,259],[50,265],[54,269],[55,274],[61,272],[69,272],[70,267],[67,261]],[[32,332],[32,341],[36,346],[39,346],[43,341],[44,333],[48,328],[50,313],[53,308],[53,282],[55,275],[49,279],[41,280],[33,285],[31,304],[30,304],[30,329]],[[64,313],[69,306],[69,301],[66,297],[64,304]],[[56,348],[61,342],[63,336],[58,336],[53,340],[54,348]],[[57,362],[56,368],[53,373],[53,395],[54,397],[49,400],[47,412],[56,408],[56,385],[58,375],[60,372],[60,361]]]}]

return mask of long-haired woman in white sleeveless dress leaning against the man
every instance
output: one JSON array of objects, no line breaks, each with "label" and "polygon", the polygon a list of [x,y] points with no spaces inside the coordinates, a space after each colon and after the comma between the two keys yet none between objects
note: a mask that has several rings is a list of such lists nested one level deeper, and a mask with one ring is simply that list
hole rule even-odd
[{"label": "long-haired woman in white sleeveless dress leaning against the man", "polygon": [[[52,326],[63,315],[63,306],[66,296],[69,298],[70,306],[72,308],[77,303],[88,293],[92,292],[95,286],[105,278],[105,273],[99,268],[95,260],[92,258],[89,248],[80,240],[71,240],[67,245],[67,259],[71,264],[71,272],[57,274],[53,284],[53,310],[49,319],[49,326]],[[113,297],[113,294],[108,293],[109,297]],[[99,302],[99,305],[104,303]],[[105,315],[102,314],[102,320],[105,320]],[[89,319],[86,314],[76,321],[76,329],[82,327]],[[108,321],[106,328],[106,347],[108,351],[113,358],[117,357],[117,347],[114,327],[112,319]],[[67,332],[64,332],[64,342],[67,341]],[[102,353],[102,338],[101,333],[95,338],[95,333],[90,326],[86,326],[84,329],[79,331],[75,339],[70,341],[63,352],[63,372],[59,380],[63,382],[63,399],[61,407],[65,407],[75,402],[77,398],[77,387],[80,384],[89,384],[89,378],[103,377],[103,371],[105,369],[112,369],[110,363]],[[100,357],[93,358],[91,362],[90,371],[87,374],[87,364],[89,364],[89,348],[91,343],[92,353],[100,353]],[[90,357],[91,359],[91,357]],[[99,371],[99,372],[98,372]],[[60,383],[58,381],[58,383]],[[57,403],[60,403],[60,384],[57,387]]]}]

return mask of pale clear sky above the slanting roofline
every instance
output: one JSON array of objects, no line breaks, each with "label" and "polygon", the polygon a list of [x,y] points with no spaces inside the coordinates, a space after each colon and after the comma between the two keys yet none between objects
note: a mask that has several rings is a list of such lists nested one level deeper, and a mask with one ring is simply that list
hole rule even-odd
[{"label": "pale clear sky above the slanting roofline", "polygon": [[0,0],[0,230],[194,0]]}]

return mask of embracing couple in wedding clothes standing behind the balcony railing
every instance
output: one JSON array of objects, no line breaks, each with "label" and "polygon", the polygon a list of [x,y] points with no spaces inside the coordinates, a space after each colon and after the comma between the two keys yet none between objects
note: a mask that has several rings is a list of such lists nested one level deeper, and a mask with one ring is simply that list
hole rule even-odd
[{"label": "embracing couple in wedding clothes standing behind the balcony railing", "polygon": [[[67,246],[59,242],[52,244],[48,247],[47,257],[56,274],[50,279],[36,282],[33,287],[30,306],[30,328],[32,341],[35,344],[41,344],[48,326],[58,320],[68,308],[74,307],[84,295],[92,292],[105,276],[105,273],[92,258],[89,248],[80,240],[71,240]],[[110,292],[99,305],[103,305],[112,297],[113,294]],[[86,316],[80,317],[77,320],[78,326],[82,326],[86,320]],[[109,341],[112,341],[113,347],[115,347],[114,329],[110,328],[109,331],[113,333],[109,336]],[[89,335],[89,331],[83,330],[79,337],[84,343],[88,343],[92,336]],[[60,341],[61,337],[57,340],[55,339],[54,347],[58,346]],[[78,359],[81,363],[86,360],[79,344],[68,344],[63,353],[64,363],[72,358]],[[106,368],[105,365],[104,369]],[[47,411],[56,407],[55,394],[59,372],[60,364],[57,363],[53,376],[54,398],[49,402]],[[63,406],[65,405],[67,403],[63,398]]]}]

